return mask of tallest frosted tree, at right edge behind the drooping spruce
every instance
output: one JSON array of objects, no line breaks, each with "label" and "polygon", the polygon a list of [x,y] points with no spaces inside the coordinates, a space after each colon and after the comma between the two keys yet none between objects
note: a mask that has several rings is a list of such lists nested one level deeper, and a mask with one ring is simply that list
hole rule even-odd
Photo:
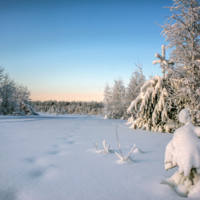
[{"label": "tallest frosted tree, at right edge behind the drooping spruce", "polygon": [[161,27],[175,63],[174,68],[166,68],[175,94],[171,100],[176,118],[186,107],[192,122],[200,126],[200,2],[174,0],[170,11],[172,16]]}]

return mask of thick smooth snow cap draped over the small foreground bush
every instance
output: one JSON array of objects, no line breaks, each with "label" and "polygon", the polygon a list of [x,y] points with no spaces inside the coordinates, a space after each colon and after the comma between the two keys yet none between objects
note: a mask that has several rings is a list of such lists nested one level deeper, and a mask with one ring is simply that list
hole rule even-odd
[{"label": "thick smooth snow cap draped over the small foreground bush", "polygon": [[192,168],[200,173],[200,140],[196,133],[200,128],[190,122],[186,109],[179,113],[179,120],[186,124],[175,131],[173,139],[166,147],[165,169],[178,166],[179,173],[184,173],[184,176],[188,176]]}]

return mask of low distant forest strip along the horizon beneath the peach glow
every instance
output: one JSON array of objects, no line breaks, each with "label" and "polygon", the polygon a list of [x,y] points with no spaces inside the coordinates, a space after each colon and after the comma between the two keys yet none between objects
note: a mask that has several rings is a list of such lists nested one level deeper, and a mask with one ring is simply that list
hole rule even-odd
[{"label": "low distant forest strip along the horizon beneath the peach glow", "polygon": [[103,115],[103,102],[96,101],[32,101],[37,112],[51,114]]}]

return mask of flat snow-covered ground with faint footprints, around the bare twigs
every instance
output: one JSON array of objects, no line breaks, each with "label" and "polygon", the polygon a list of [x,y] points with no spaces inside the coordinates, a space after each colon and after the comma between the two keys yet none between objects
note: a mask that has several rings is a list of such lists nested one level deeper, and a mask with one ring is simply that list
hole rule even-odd
[{"label": "flat snow-covered ground with faint footprints, around the bare twigs", "polygon": [[[0,116],[0,200],[183,199],[161,184],[172,134],[131,130],[123,120],[81,115]],[[97,153],[103,140],[122,152]],[[190,199],[190,198],[188,198]]]}]

